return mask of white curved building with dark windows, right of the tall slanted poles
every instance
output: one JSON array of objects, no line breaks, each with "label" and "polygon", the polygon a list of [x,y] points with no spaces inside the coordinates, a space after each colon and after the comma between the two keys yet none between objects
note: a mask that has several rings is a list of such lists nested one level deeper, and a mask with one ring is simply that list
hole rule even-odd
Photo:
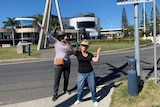
[{"label": "white curved building with dark windows, right of the tall slanted poles", "polygon": [[100,20],[94,13],[79,13],[72,18],[62,20],[64,27],[70,26],[70,28],[74,28],[75,30],[85,29],[91,38],[97,38],[100,35]]}]

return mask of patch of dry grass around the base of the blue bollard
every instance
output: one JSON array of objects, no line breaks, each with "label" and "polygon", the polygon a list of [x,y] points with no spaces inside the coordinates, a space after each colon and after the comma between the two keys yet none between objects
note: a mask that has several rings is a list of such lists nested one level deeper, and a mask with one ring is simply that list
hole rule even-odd
[{"label": "patch of dry grass around the base of the blue bollard", "polygon": [[128,94],[128,82],[115,87],[110,107],[160,107],[160,84],[146,80],[137,96]]}]

